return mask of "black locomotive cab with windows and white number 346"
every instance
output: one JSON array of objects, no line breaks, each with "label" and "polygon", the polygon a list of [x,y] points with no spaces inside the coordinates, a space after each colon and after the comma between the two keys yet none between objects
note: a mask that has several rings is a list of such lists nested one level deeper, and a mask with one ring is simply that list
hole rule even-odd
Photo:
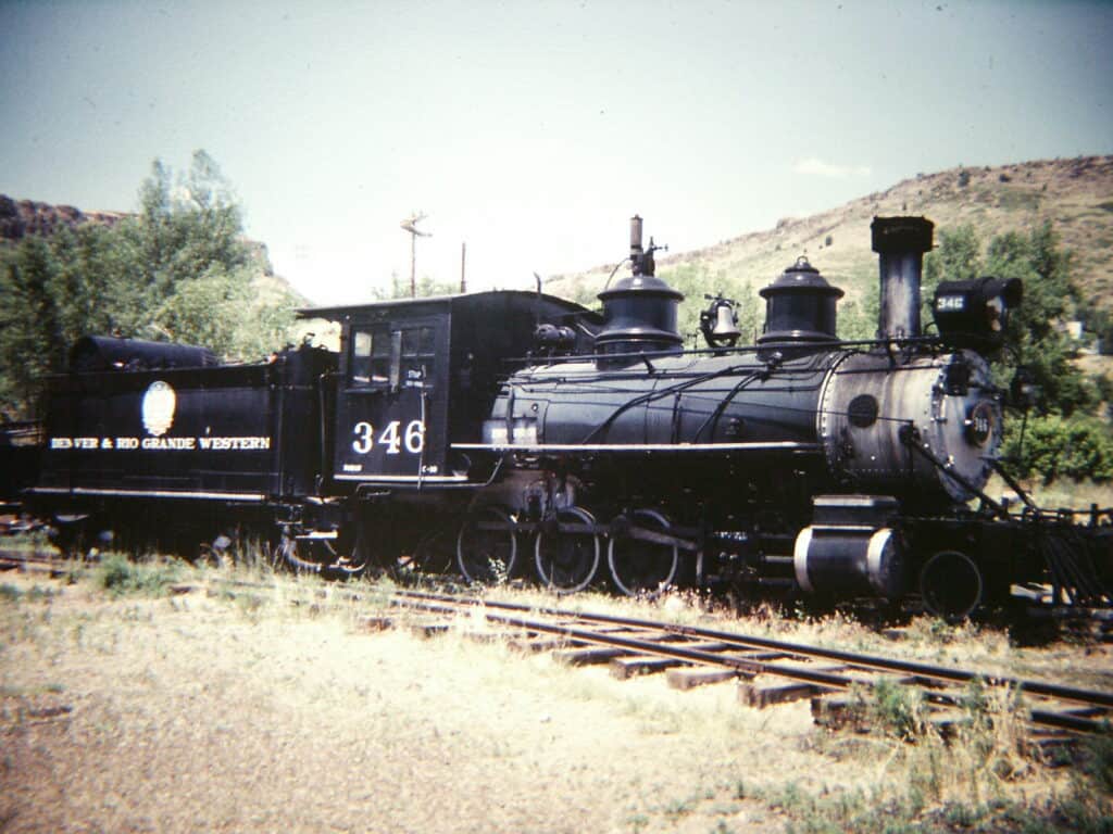
[{"label": "black locomotive cab with windows and white number 346", "polygon": [[[553,296],[490,291],[303,310],[342,324],[332,479],[421,489],[485,479],[469,451],[512,369],[539,327],[590,317]],[[496,322],[498,326],[493,326]],[[587,351],[590,334],[572,328]],[[451,407],[450,407],[451,406]]]}]

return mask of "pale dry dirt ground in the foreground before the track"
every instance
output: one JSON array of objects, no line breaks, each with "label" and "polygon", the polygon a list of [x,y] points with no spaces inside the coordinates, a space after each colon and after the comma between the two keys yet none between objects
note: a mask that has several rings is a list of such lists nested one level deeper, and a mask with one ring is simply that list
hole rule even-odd
[{"label": "pale dry dirt ground in the foreground before the track", "polygon": [[376,632],[332,589],[0,583],[4,832],[779,832],[762,790],[893,775],[888,748],[835,755],[806,702]]}]

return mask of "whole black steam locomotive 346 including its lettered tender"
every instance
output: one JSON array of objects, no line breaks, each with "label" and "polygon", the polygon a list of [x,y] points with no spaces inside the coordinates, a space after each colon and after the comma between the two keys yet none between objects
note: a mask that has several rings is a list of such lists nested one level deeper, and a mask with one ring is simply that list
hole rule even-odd
[{"label": "whole black steam locomotive 346 including its lettered tender", "polygon": [[305,310],[341,324],[339,351],[250,366],[87,337],[50,381],[24,500],[73,540],[277,530],[284,558],[328,573],[408,559],[564,592],[609,577],[627,594],[918,597],[948,617],[1017,586],[1109,604],[1107,512],[1076,524],[983,492],[1007,395],[987,357],[1020,282],[944,282],[925,336],[933,226],[871,229],[868,342],[837,338],[843,292],[800,258],[761,290],[756,345],[737,346],[717,297],[707,347],[686,350],[682,296],[637,217],[601,312],[540,288]]}]

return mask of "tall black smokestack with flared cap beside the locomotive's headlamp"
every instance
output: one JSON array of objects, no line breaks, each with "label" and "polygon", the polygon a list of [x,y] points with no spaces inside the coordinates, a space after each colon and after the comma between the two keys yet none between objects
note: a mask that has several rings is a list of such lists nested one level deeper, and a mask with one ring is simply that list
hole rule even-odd
[{"label": "tall black smokestack with flared cap beside the locomotive's headlamp", "polygon": [[869,226],[879,258],[881,294],[877,336],[919,336],[919,284],[935,224],[923,217],[875,217]]}]

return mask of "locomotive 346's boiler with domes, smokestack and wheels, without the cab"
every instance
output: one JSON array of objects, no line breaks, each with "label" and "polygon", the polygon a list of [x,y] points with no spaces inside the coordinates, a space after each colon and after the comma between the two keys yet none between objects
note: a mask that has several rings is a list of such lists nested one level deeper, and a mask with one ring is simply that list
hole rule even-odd
[{"label": "locomotive 346's boiler with domes, smokestack and wheels, without the cab", "polygon": [[[686,351],[681,296],[656,277],[654,247],[642,248],[634,218],[630,275],[599,296],[593,354],[511,375],[482,444],[466,446],[513,456],[524,486],[496,495],[503,520],[542,519],[519,525],[534,534],[542,582],[587,586],[605,549],[628,593],[684,575],[828,597],[897,599],[918,584],[948,614],[1007,594],[1015,565],[965,553],[976,522],[966,523],[964,550],[939,543],[967,502],[987,498],[1002,440],[1003,391],[984,356],[959,345],[994,348],[1021,287],[944,284],[936,309],[992,315],[964,318],[962,330],[944,315],[943,338],[923,337],[932,228],[923,218],[873,225],[878,340],[838,340],[843,292],[801,257],[761,290],[767,317],[755,346],[723,344],[737,331],[718,315],[720,300],[705,316],[709,348]],[[481,526],[495,527],[498,515]],[[462,536],[460,567],[482,577],[470,542]]]}]

